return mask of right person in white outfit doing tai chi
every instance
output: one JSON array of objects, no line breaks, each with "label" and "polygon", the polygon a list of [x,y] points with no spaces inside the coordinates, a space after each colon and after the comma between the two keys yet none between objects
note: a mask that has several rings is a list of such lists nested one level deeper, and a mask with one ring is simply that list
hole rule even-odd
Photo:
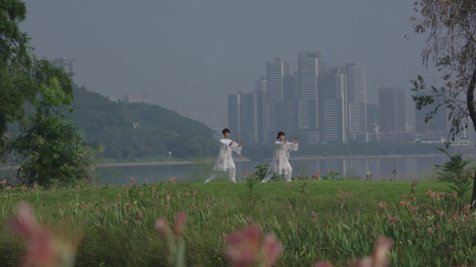
[{"label": "right person in white outfit doing tai chi", "polygon": [[274,143],[273,159],[271,159],[268,172],[264,175],[262,183],[267,183],[275,174],[284,175],[286,181],[291,181],[292,168],[289,164],[289,151],[297,151],[298,138],[294,137],[294,142],[289,143],[285,133],[280,131],[276,139],[278,140]]}]

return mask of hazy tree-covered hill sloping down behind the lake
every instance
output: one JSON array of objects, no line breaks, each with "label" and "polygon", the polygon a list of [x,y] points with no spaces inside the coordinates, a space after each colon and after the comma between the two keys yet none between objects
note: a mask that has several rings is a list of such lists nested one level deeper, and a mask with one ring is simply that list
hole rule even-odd
[{"label": "hazy tree-covered hill sloping down behind the lake", "polygon": [[72,116],[93,146],[104,147],[106,158],[167,155],[182,159],[216,154],[213,131],[205,124],[157,105],[111,102],[74,88]]}]

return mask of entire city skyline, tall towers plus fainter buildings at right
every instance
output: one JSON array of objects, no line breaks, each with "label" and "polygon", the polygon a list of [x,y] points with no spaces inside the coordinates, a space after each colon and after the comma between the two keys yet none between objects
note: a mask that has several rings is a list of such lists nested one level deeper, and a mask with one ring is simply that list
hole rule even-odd
[{"label": "entire city skyline, tall towers plus fainter buildings at right", "polygon": [[[415,111],[415,124],[405,120],[404,88],[384,83],[378,104],[367,103],[365,67],[354,63],[328,66],[319,51],[300,52],[297,71],[289,62],[267,62],[266,76],[254,92],[228,95],[228,128],[247,143],[269,143],[278,131],[302,143],[411,142],[447,138],[447,111],[442,106],[425,122],[434,106]],[[471,131],[461,138],[474,140]]]}]

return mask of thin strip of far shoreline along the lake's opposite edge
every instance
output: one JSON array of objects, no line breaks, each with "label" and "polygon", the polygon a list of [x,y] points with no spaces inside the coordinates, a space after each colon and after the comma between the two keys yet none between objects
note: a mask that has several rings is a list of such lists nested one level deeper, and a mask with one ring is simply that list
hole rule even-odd
[{"label": "thin strip of far shoreline along the lake's opposite edge", "polygon": [[[322,160],[322,159],[399,159],[399,158],[423,158],[423,157],[445,157],[445,154],[408,154],[408,155],[372,155],[372,156],[291,156],[289,161],[299,160]],[[476,159],[476,154],[466,154]],[[269,159],[263,159],[267,161]],[[235,162],[250,162],[250,159],[235,159]],[[213,160],[206,161],[213,163]],[[154,165],[192,165],[195,161],[144,161],[144,162],[121,162],[121,163],[97,163],[96,168],[102,167],[136,167],[136,166],[154,166]],[[0,170],[17,170],[17,166],[0,166]]]}]

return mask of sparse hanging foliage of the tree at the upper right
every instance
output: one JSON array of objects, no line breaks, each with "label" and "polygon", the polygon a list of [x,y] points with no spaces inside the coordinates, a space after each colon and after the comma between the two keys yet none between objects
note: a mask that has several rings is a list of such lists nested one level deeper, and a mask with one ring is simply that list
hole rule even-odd
[{"label": "sparse hanging foliage of the tree at the upper right", "polygon": [[[427,34],[423,63],[434,63],[444,81],[440,88],[428,88],[422,76],[412,81],[417,109],[435,104],[434,111],[427,113],[427,121],[439,107],[447,106],[452,138],[470,122],[476,131],[476,2],[417,0],[414,10],[421,16],[412,18],[415,32]],[[476,201],[476,172],[471,201]]]}]

